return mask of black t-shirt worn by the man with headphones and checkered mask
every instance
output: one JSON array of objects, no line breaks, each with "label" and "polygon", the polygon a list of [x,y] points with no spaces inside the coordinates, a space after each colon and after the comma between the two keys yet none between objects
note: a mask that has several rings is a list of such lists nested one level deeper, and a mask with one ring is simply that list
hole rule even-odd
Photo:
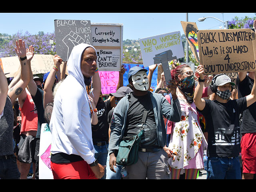
[{"label": "black t-shirt worn by the man with headphones and checkered mask", "polygon": [[201,112],[208,129],[208,156],[234,157],[241,152],[239,114],[246,109],[246,98],[220,103],[205,100]]}]

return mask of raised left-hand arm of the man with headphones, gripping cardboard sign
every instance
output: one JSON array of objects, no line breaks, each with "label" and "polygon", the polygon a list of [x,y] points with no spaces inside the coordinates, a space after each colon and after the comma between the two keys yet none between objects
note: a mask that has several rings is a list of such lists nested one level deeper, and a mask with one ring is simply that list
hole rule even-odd
[{"label": "raised left-hand arm of the man with headphones, gripping cardboard sign", "polygon": [[[203,80],[204,68],[202,65],[198,65],[197,72],[199,74],[199,78]],[[196,86],[195,93],[194,93],[194,104],[199,110],[203,110],[205,107],[205,100],[202,99],[203,88],[204,88],[204,82],[198,82],[198,85]]]}]

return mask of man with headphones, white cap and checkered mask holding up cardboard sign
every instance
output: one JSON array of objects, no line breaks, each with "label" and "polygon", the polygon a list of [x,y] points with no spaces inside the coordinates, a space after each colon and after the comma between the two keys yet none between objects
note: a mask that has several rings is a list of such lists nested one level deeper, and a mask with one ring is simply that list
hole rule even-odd
[{"label": "man with headphones, white cap and checkered mask holding up cardboard sign", "polygon": [[[204,78],[203,73],[204,68],[199,65],[200,79]],[[227,75],[216,75],[210,85],[212,92],[216,94],[216,100],[213,101],[202,99],[201,81],[195,89],[194,103],[204,115],[208,127],[208,179],[241,179],[238,159],[241,152],[239,114],[256,102],[256,85],[253,85],[248,96],[230,100],[234,85]]]}]

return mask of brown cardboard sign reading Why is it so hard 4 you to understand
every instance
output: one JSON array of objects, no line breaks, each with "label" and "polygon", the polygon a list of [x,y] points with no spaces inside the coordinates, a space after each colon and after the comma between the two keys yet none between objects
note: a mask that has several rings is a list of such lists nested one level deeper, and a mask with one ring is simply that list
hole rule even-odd
[{"label": "brown cardboard sign reading Why is it so hard 4 you to understand", "polygon": [[204,73],[255,71],[255,37],[252,29],[199,30],[199,56]]}]

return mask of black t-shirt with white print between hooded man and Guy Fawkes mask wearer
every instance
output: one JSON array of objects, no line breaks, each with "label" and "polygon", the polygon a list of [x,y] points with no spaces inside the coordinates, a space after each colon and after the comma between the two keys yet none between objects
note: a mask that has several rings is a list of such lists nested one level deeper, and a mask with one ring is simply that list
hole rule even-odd
[{"label": "black t-shirt with white print between hooded man and Guy Fawkes mask wearer", "polygon": [[95,142],[108,141],[108,112],[112,109],[110,99],[100,101],[97,105],[98,124],[92,125],[92,140]]}]

